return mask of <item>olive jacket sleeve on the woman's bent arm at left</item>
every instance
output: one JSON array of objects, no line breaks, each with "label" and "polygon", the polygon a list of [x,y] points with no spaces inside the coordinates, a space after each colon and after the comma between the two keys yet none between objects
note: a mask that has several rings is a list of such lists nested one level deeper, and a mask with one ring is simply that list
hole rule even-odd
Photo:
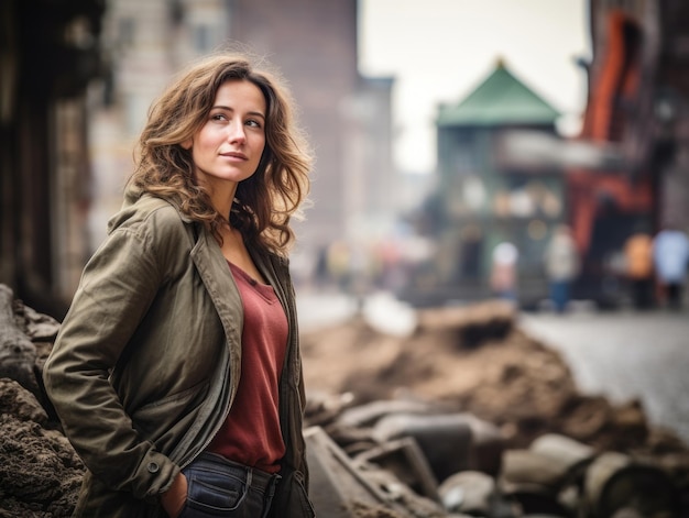
[{"label": "olive jacket sleeve on the woman's bent arm at left", "polygon": [[156,240],[149,234],[120,228],[94,254],[43,373],[64,431],[86,466],[112,489],[136,498],[166,491],[179,471],[139,436],[109,383],[165,280]]}]

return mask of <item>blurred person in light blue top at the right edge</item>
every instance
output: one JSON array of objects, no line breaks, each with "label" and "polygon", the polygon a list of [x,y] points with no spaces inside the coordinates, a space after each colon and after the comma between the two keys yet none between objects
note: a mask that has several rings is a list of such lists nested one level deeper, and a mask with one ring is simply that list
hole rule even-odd
[{"label": "blurred person in light blue top at the right edge", "polygon": [[687,234],[672,223],[666,224],[654,240],[653,258],[667,306],[680,309],[689,264]]}]

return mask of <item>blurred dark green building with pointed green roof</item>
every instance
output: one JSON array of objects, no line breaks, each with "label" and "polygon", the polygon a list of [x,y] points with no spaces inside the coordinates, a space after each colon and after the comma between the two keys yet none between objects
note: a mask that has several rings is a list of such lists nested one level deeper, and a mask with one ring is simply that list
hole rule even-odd
[{"label": "blurred dark green building with pointed green roof", "polygon": [[438,107],[438,185],[424,225],[437,243],[429,268],[436,278],[430,287],[424,274],[426,293],[411,284],[405,298],[441,304],[490,297],[492,254],[503,242],[518,251],[520,298],[545,296],[545,246],[566,217],[562,168],[510,163],[502,142],[506,134],[559,139],[558,117],[502,60],[460,102]]}]

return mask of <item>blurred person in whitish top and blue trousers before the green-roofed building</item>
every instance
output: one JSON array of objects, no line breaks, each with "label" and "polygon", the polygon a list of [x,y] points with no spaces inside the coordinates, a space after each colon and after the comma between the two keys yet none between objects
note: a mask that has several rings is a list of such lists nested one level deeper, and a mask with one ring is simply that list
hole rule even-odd
[{"label": "blurred person in whitish top and blue trousers before the green-roofed building", "polygon": [[555,229],[545,253],[546,276],[555,310],[565,312],[570,299],[571,284],[579,275],[580,261],[577,243],[567,224]]}]

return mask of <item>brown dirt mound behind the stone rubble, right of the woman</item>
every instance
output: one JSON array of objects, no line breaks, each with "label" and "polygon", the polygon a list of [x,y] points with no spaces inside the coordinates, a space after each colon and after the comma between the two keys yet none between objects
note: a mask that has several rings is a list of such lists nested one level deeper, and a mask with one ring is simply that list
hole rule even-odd
[{"label": "brown dirt mound behind the stone rubble, right of the woman", "polygon": [[500,301],[419,311],[405,337],[358,316],[304,333],[306,386],[351,393],[359,404],[403,395],[442,403],[497,425],[513,447],[546,432],[601,450],[657,442],[660,432],[652,433],[639,403],[615,407],[583,396],[559,353],[515,322]]}]

